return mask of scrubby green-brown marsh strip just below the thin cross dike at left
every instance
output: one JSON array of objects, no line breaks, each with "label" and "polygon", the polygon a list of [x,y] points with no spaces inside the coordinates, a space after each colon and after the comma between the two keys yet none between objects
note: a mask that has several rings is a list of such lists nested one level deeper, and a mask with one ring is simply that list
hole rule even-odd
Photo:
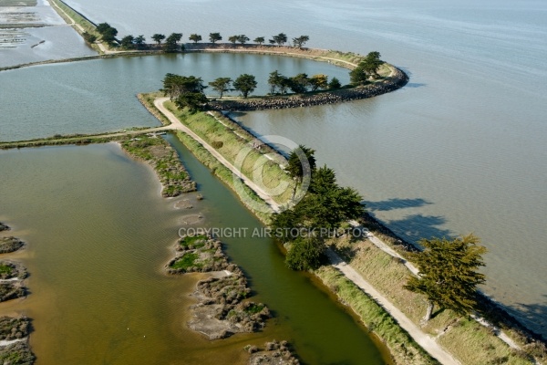
[{"label": "scrubby green-brown marsh strip just below the thin cross dike at left", "polygon": [[163,185],[162,196],[178,196],[196,190],[196,183],[191,181],[177,152],[162,138],[139,136],[122,141],[121,146],[131,156],[152,166]]}]

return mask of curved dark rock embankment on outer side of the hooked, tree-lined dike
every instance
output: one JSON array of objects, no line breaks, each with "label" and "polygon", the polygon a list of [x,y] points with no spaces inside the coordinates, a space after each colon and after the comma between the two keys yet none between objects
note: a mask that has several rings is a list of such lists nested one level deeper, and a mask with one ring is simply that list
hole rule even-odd
[{"label": "curved dark rock embankment on outer side of the hooked, tree-lined dike", "polygon": [[271,110],[311,107],[373,98],[400,89],[407,84],[407,74],[398,68],[392,68],[393,72],[389,77],[353,89],[328,90],[315,94],[297,94],[287,97],[272,96],[260,99],[212,100],[209,103],[209,107],[212,110],[219,111]]}]

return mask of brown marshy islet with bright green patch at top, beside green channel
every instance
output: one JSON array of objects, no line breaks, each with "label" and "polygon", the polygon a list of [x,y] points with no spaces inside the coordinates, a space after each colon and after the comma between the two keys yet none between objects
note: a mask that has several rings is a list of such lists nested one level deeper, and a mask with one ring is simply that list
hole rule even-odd
[{"label": "brown marshy islet with bright green patch at top, beside green channel", "polygon": [[256,332],[271,317],[262,303],[248,300],[251,289],[243,271],[228,262],[222,243],[206,235],[188,235],[176,245],[177,255],[166,270],[169,274],[208,273],[191,294],[188,326],[208,339],[224,339],[235,333]]}]

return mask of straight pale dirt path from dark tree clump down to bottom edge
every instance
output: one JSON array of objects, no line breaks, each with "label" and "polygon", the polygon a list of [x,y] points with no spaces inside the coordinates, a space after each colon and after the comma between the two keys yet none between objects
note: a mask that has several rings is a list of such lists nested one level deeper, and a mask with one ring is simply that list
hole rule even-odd
[{"label": "straight pale dirt path from dark tree clump down to bottom edge", "polygon": [[445,349],[443,349],[435,339],[425,334],[410,318],[405,316],[397,307],[395,307],[386,297],[382,296],[377,289],[372,287],[364,278],[360,276],[353,267],[349,266],[336,255],[334,251],[328,249],[326,251],[331,263],[335,268],[340,270],[344,276],[353,281],[357,287],[360,287],[370,297],[372,297],[380,306],[386,309],[393,318],[395,318],[402,328],[418,342],[418,345],[428,351],[429,355],[439,360],[444,365],[459,365],[459,361],[454,359]]}]

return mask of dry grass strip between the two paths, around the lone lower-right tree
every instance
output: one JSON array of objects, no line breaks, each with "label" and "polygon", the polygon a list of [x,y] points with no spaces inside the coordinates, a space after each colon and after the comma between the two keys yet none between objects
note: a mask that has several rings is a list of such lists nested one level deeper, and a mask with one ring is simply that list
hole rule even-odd
[{"label": "dry grass strip between the two paths, around the lone lower-right tree", "polygon": [[[427,302],[424,296],[404,288],[410,272],[400,259],[388,255],[368,240],[343,236],[333,239],[330,244],[336,253],[342,256],[378,292],[387,297],[414,323],[419,323],[426,313]],[[343,300],[355,300],[346,297]],[[370,328],[366,319],[364,322]],[[372,328],[376,328],[377,324],[375,322],[372,324]],[[480,325],[474,319],[461,317],[448,309],[435,314],[428,324],[422,327],[422,330],[436,338],[439,344],[462,364],[534,363],[531,353],[511,349],[490,328]],[[524,347],[524,349],[527,348]]]}]

